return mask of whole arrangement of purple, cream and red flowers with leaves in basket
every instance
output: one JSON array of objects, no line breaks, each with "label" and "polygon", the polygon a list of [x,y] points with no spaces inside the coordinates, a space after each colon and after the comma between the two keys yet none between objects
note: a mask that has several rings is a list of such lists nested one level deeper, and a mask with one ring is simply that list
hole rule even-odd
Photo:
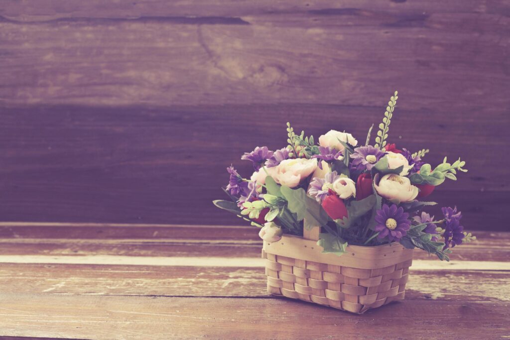
[{"label": "whole arrangement of purple, cream and red flowers with leaves in basket", "polygon": [[466,172],[458,159],[432,169],[422,160],[428,149],[410,152],[388,143],[397,102],[391,97],[375,143],[372,127],[364,145],[351,134],[330,130],[316,143],[294,133],[287,123],[288,145],[276,151],[256,147],[241,159],[252,162],[250,178],[232,166],[224,191],[231,200],[214,204],[261,228],[260,237],[276,242],[282,234],[302,236],[320,227],[323,253],[342,255],[347,245],[379,246],[399,242],[449,260],[451,248],[475,239],[463,230],[461,212],[444,207],[435,219],[422,209],[437,203],[422,199],[446,179]]}]

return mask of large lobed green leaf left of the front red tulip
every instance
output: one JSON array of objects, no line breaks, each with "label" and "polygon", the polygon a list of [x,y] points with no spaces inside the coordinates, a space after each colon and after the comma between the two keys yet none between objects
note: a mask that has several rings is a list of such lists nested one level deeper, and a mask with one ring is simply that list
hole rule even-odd
[{"label": "large lobed green leaf left of the front red tulip", "polygon": [[288,202],[289,210],[296,214],[297,221],[304,219],[304,228],[307,230],[315,226],[323,226],[329,220],[326,212],[320,204],[310,196],[304,189],[293,190],[289,187],[281,187],[282,194]]}]

